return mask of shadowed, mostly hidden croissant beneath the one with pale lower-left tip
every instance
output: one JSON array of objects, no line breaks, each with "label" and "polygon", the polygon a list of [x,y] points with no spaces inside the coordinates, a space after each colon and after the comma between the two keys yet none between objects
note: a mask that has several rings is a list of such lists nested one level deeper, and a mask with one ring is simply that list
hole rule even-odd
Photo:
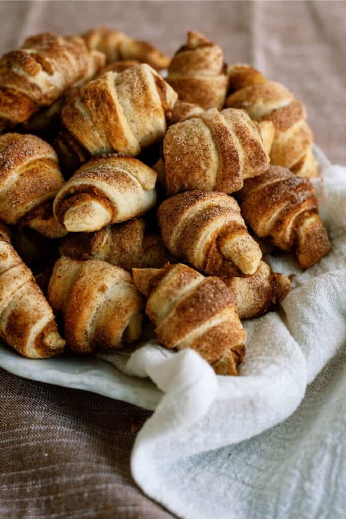
[{"label": "shadowed, mostly hidden croissant beneath the one with pale lower-left tip", "polygon": [[94,233],[71,233],[59,251],[74,260],[105,260],[125,270],[162,267],[173,259],[161,237],[146,231],[143,218],[107,225]]}]

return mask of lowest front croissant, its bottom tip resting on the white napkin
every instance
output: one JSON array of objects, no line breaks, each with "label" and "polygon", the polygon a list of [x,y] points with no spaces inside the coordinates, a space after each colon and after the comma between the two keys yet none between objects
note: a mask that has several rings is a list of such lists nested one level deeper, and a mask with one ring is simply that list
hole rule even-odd
[{"label": "lowest front croissant, its bottom tip resting on the white napkin", "polygon": [[181,263],[134,268],[134,284],[147,296],[146,315],[167,348],[192,348],[220,375],[237,375],[245,354],[245,331],[236,296],[216,277],[205,278]]}]

